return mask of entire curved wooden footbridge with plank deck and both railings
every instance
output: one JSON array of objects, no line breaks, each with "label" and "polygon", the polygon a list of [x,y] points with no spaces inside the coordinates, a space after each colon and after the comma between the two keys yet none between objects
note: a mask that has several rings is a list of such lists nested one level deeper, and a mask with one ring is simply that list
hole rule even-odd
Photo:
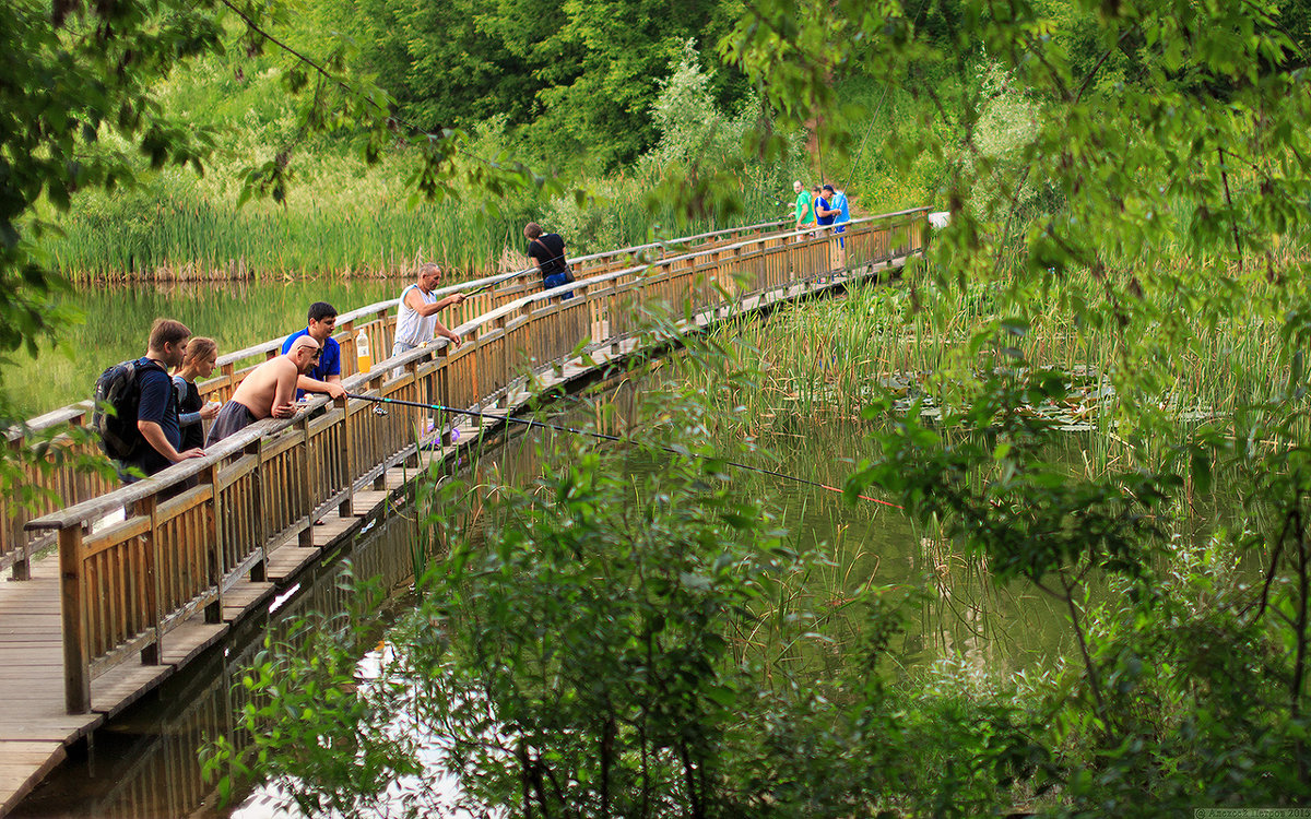
[{"label": "entire curved wooden footbridge with plank deck and both railings", "polygon": [[[338,317],[353,393],[513,413],[544,387],[586,376],[642,343],[640,304],[661,303],[687,330],[726,314],[899,267],[922,249],[924,208],[856,219],[844,249],[830,233],[762,224],[577,259],[578,280],[541,292],[523,271],[465,282],[459,347],[444,341],[357,372],[363,334],[391,350],[395,300]],[[573,297],[564,299],[565,292]],[[219,359],[203,396],[227,400],[273,339]],[[67,455],[29,469],[33,507],[0,498],[0,815],[64,759],[68,746],[156,687],[323,550],[382,514],[433,460],[452,456],[454,418],[374,402],[316,398],[152,478],[121,486]],[[87,423],[84,402],[30,422]],[[461,442],[477,438],[465,422]],[[12,432],[10,447],[29,446]],[[81,453],[90,455],[90,453]],[[180,485],[190,485],[180,494]]]}]

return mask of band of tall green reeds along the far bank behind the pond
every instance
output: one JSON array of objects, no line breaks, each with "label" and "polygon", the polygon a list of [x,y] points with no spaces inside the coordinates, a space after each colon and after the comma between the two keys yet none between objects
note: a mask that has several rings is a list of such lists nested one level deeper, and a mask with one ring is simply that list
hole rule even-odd
[{"label": "band of tall green reeds along the far bank behind the pond", "polygon": [[[378,168],[330,152],[304,161],[309,168],[281,206],[239,208],[239,190],[224,176],[235,176],[235,166],[206,178],[169,169],[134,190],[89,191],[59,216],[63,235],[46,250],[52,266],[79,284],[389,276],[431,259],[468,273],[522,266],[522,228],[530,220],[561,233],[576,256],[644,244],[653,231],[686,236],[729,227],[713,215],[687,221],[669,204],[649,204],[650,181],[641,176],[579,180],[577,187],[590,191],[582,204],[573,195],[544,199],[531,191],[489,200],[471,190],[410,207],[408,157]],[[777,218],[766,191],[741,193],[746,211],[732,224]]]}]

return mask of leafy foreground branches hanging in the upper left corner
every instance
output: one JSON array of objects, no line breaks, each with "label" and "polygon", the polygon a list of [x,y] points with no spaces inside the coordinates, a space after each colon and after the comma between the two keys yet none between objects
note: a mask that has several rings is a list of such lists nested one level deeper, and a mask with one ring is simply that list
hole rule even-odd
[{"label": "leafy foreground branches hanging in the upper left corner", "polygon": [[[468,138],[460,131],[430,135],[396,122],[391,98],[346,72],[345,43],[316,56],[282,39],[277,26],[287,14],[279,3],[236,0],[14,0],[0,8],[0,50],[10,58],[0,80],[0,367],[18,349],[35,352],[38,343],[56,339],[72,318],[52,304],[64,283],[42,254],[42,237],[58,229],[51,210],[67,210],[80,190],[134,185],[139,156],[153,169],[205,172],[215,134],[170,114],[159,86],[180,66],[224,54],[233,30],[246,54],[270,47],[282,55],[283,89],[298,100],[295,132],[271,157],[244,169],[243,202],[252,195],[282,202],[296,148],[329,132],[345,134],[370,162],[396,142],[409,144],[420,157],[409,180],[414,197],[471,187],[493,195],[511,187],[558,190],[522,164],[465,156]],[[22,421],[0,394],[0,426],[10,425]],[[21,501],[38,491],[25,480],[31,469],[54,469],[68,459],[108,468],[104,459],[79,455],[85,430],[51,427],[28,443],[0,456],[0,486]]]}]

